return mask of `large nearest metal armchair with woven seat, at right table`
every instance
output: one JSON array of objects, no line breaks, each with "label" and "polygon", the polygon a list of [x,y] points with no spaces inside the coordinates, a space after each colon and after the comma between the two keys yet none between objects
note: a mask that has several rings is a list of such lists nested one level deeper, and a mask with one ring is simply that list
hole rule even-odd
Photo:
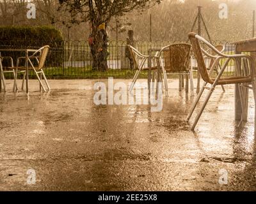
[{"label": "large nearest metal armchair with woven seat, at right table", "polygon": [[[209,98],[211,97],[212,92],[214,91],[216,85],[226,85],[226,84],[238,84],[239,86],[239,96],[241,98],[241,101],[243,101],[243,93],[241,87],[246,87],[250,88],[253,90],[253,96],[254,96],[254,101],[256,103],[256,90],[255,90],[255,68],[254,68],[254,63],[252,57],[249,55],[244,55],[244,54],[235,54],[235,55],[226,55],[221,53],[218,49],[216,49],[211,43],[206,41],[204,38],[201,36],[198,36],[196,33],[189,33],[189,40],[192,43],[193,47],[193,52],[196,57],[196,61],[198,63],[198,69],[200,71],[200,74],[204,80],[204,85],[200,89],[200,92],[198,93],[198,96],[193,103],[193,106],[188,114],[187,121],[191,118],[191,115],[193,114],[196,105],[198,104],[199,99],[201,98],[203,92],[205,89],[209,90],[205,101],[200,108],[200,112],[196,116],[195,122],[193,123],[193,126],[191,129],[195,129],[195,126],[200,119],[202,112],[204,111],[205,106],[207,105],[207,102],[209,101]],[[211,48],[212,52],[214,52],[216,55],[211,55],[208,52],[206,52],[203,48],[200,47],[200,41],[202,43],[205,43],[207,47]],[[207,71],[207,68],[205,66],[205,60],[204,60],[204,55],[207,55],[208,57],[211,57],[213,59],[213,64],[211,66],[210,71]],[[218,76],[216,78],[211,78],[211,73],[214,71],[216,68],[216,65],[220,62],[221,59],[225,59],[225,62],[223,66],[221,66],[221,70],[218,73]],[[231,60],[234,60],[236,62],[236,76],[234,77],[227,77],[227,78],[221,78],[223,75],[223,72],[225,71],[225,68],[227,68],[228,62]],[[239,61],[243,62],[244,70],[239,70],[238,69],[238,63]],[[210,84],[211,87],[207,87],[207,84]],[[248,84],[251,84],[252,87],[250,87]],[[255,104],[256,105],[256,104]],[[242,112],[244,112],[244,104],[243,102],[241,103],[242,106]],[[256,108],[255,108],[255,113],[256,113]],[[255,114],[256,117],[256,114]],[[255,118],[256,119],[256,118]],[[241,119],[242,120],[242,119]]]}]

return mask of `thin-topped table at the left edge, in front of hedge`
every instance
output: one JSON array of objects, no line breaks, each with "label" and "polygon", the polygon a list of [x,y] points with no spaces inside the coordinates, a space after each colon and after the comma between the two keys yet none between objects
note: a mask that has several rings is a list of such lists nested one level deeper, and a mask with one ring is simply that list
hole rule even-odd
[{"label": "thin-topped table at the left edge, in front of hedge", "polygon": [[[25,67],[26,67],[26,93],[28,94],[28,54],[29,52],[36,52],[35,49],[30,49],[30,48],[6,48],[6,49],[0,49],[0,56],[1,52],[24,52],[25,57],[26,57],[26,62],[25,62]],[[3,69],[2,63],[0,64],[1,69]],[[14,67],[15,68],[15,67]],[[3,77],[3,84],[5,87],[5,82],[4,82],[4,76]]]}]

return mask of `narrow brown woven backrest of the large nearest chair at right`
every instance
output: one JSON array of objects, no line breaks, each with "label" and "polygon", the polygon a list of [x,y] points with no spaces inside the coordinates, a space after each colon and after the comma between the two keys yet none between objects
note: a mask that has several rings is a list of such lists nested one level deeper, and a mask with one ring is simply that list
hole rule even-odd
[{"label": "narrow brown woven backrest of the large nearest chair at right", "polygon": [[198,70],[200,71],[200,75],[202,76],[203,80],[205,82],[211,83],[211,78],[209,77],[207,68],[205,66],[204,55],[200,47],[200,41],[198,40],[198,38],[196,38],[196,35],[197,34],[193,32],[188,34],[198,64]]}]

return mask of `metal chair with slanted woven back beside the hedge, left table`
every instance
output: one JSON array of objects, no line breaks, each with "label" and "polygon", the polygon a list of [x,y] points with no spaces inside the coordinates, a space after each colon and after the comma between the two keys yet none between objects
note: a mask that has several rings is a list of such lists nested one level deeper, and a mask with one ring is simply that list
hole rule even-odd
[{"label": "metal chair with slanted woven back beside the hedge, left table", "polygon": [[[49,51],[49,45],[45,45],[44,47],[41,47],[40,49],[36,50],[36,52],[34,52],[33,55],[28,57],[28,62],[31,65],[31,67],[28,67],[28,69],[33,70],[35,72],[36,78],[38,79],[39,84],[40,84],[40,90],[41,90],[41,87],[42,87],[42,89],[44,91],[46,91],[46,90],[45,90],[45,87],[42,83],[42,76],[44,77],[45,84],[47,85],[47,89],[49,91],[51,90],[51,88],[49,86],[49,83],[47,81],[47,78],[45,77],[44,70],[43,70],[48,51]],[[16,90],[17,90],[16,81],[17,81],[18,73],[20,73],[20,72],[24,73],[23,74],[23,79],[22,79],[22,90],[24,89],[24,80],[25,80],[25,77],[26,77],[26,74],[27,74],[26,73],[26,69],[27,69],[26,66],[19,66],[20,59],[26,59],[26,57],[19,57],[17,59],[16,67],[8,67],[8,69],[13,69],[13,68],[15,69],[14,83],[15,83]],[[33,65],[31,59],[35,59],[35,61],[37,62],[37,66]],[[19,71],[19,70],[21,70],[21,71]],[[40,74],[40,76],[38,74]]]}]

